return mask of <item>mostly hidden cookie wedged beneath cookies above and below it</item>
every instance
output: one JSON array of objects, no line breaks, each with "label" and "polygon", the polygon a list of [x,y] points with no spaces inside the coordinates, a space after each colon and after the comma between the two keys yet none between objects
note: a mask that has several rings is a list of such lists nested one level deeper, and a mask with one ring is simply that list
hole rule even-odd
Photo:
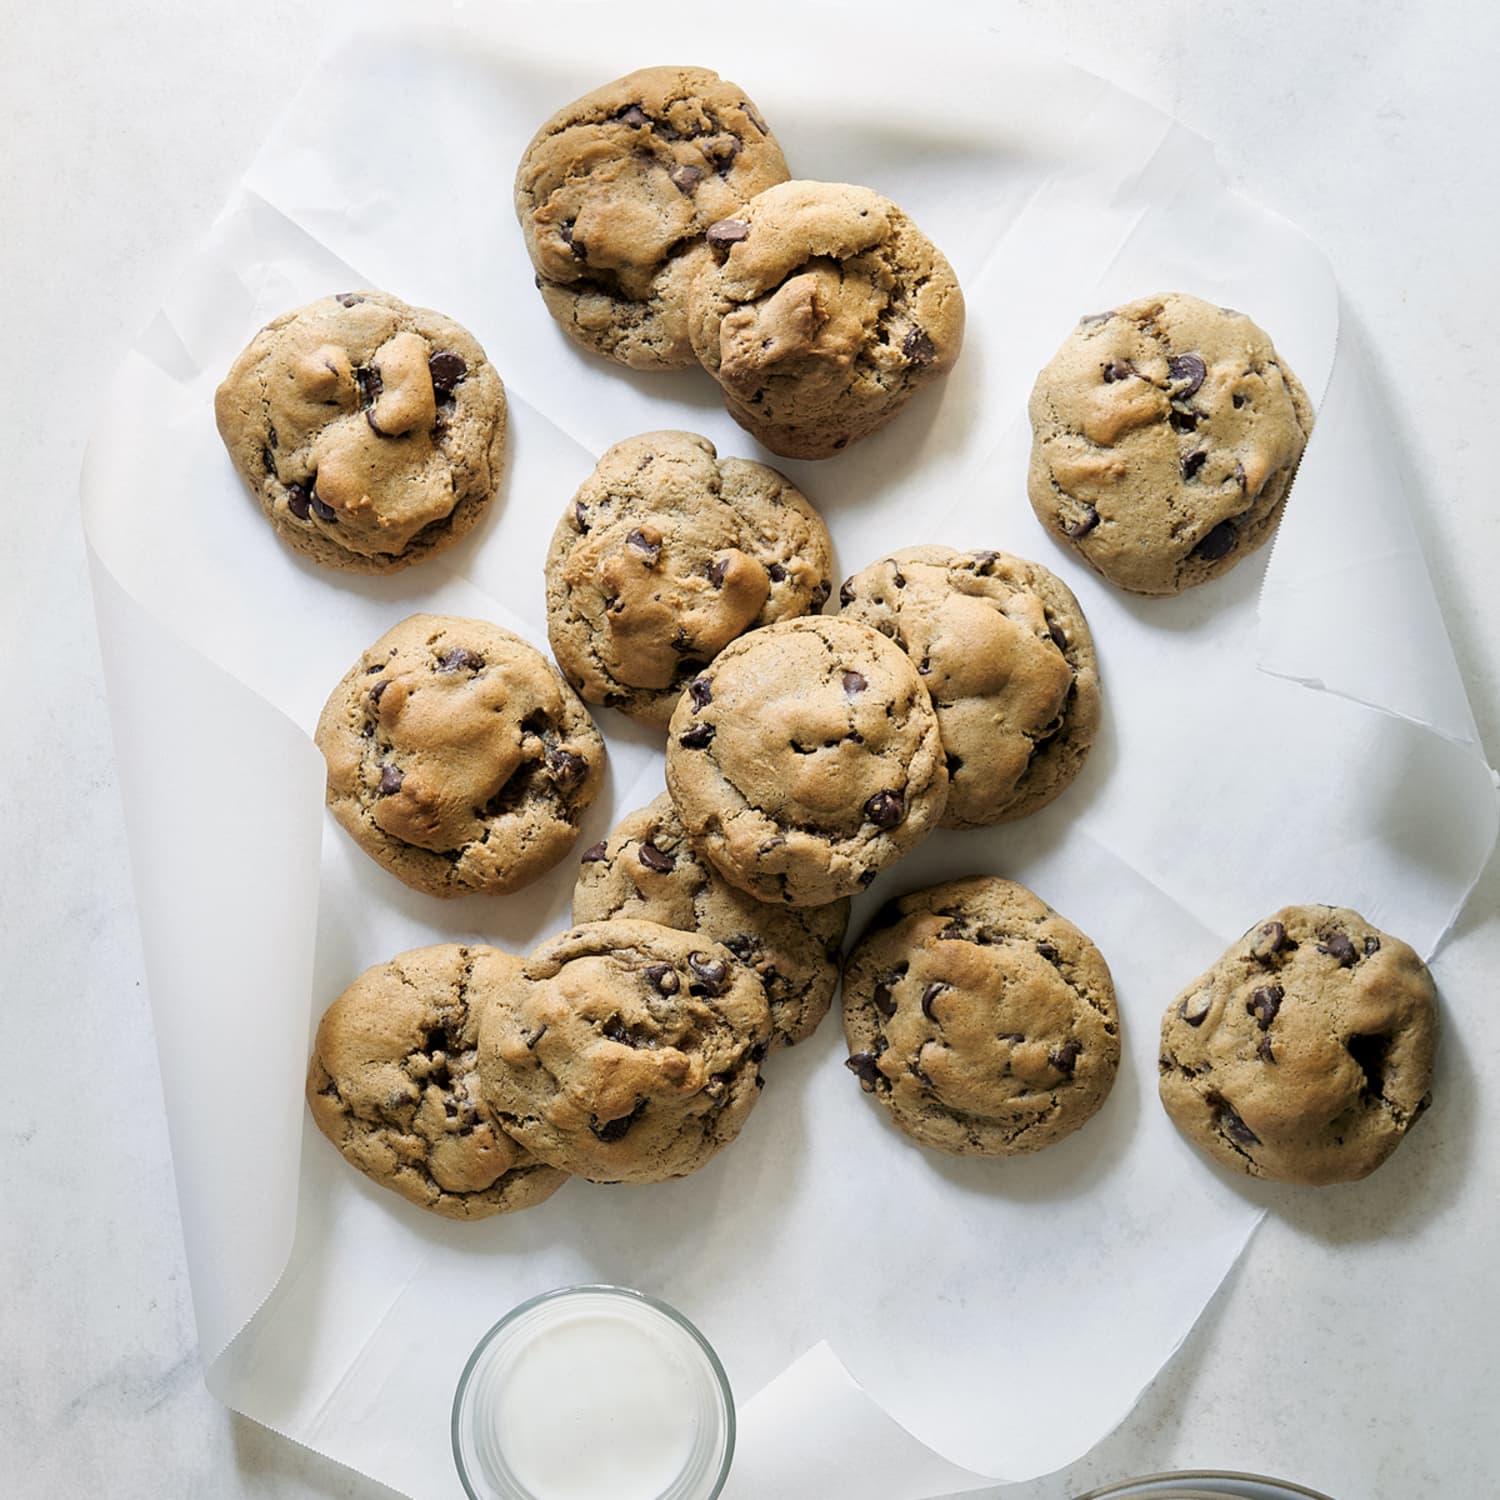
[{"label": "mostly hidden cookie wedged beneath cookies above and below it", "polygon": [[748,964],[771,1006],[772,1044],[806,1041],[828,1014],[849,926],[848,900],[768,906],[735,890],[687,842],[666,792],[584,854],[573,921],[618,916],[700,933]]}]

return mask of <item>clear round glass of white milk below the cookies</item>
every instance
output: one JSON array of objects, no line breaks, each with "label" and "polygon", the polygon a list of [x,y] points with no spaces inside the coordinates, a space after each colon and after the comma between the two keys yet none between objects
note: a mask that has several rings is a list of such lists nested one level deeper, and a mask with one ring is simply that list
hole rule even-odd
[{"label": "clear round glass of white milk below the cookies", "polygon": [[471,1500],[714,1500],[735,1450],[718,1356],[675,1308],[627,1287],[522,1302],[453,1396]]}]

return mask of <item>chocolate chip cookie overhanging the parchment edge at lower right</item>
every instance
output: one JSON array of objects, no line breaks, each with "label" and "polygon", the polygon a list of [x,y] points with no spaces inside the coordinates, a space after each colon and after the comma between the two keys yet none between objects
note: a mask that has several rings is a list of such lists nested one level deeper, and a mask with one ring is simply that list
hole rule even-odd
[{"label": "chocolate chip cookie overhanging the parchment edge at lower right", "polygon": [[1236,1172],[1353,1182],[1426,1108],[1436,1047],[1437,992],[1404,942],[1338,906],[1286,906],[1167,1006],[1161,1102]]}]

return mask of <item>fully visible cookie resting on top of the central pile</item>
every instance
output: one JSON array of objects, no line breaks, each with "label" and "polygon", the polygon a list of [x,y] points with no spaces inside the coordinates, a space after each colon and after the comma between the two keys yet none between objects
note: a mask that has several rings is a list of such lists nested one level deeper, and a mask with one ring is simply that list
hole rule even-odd
[{"label": "fully visible cookie resting on top of the central pile", "polygon": [[864,890],[948,796],[916,668],[868,626],[822,616],[741,636],[688,682],[666,784],[724,879],[788,906]]}]

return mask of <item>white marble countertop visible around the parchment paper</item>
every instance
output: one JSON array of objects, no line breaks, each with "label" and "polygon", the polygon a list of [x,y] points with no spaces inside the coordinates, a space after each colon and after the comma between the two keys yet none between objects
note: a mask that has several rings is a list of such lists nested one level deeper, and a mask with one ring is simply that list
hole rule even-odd
[{"label": "white marble countertop visible around the parchment paper", "polygon": [[[918,15],[987,24],[1173,111],[1218,142],[1234,186],[1323,246],[1500,760],[1500,504],[1486,462],[1500,9],[950,0]],[[0,286],[20,334],[0,358],[0,1488],[27,1500],[387,1496],[225,1412],[201,1380],[76,507],[110,370],[296,93],[327,18],[294,0],[0,0]],[[880,87],[898,86],[898,54]],[[1497,910],[1491,861],[1437,956],[1443,992],[1488,994]],[[1276,1473],[1335,1500],[1492,1494],[1496,1086],[1500,1028],[1450,1029],[1437,1104],[1390,1164],[1268,1218],[1126,1422],[1014,1494],[1062,1500],[1184,1467]]]}]

